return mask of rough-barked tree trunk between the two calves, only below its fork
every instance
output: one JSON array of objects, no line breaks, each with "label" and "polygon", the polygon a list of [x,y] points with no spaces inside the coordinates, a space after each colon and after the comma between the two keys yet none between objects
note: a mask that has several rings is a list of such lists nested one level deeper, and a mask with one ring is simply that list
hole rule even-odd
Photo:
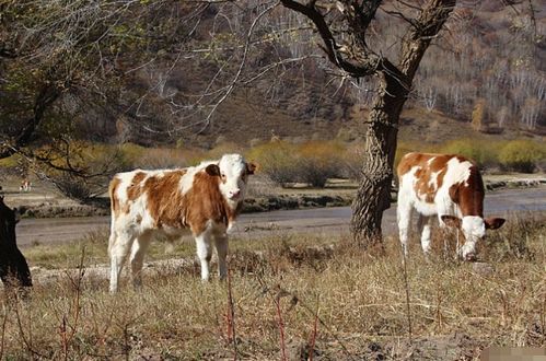
[{"label": "rough-barked tree trunk between the two calves, only below its fork", "polygon": [[365,154],[357,197],[352,202],[351,232],[364,247],[381,244],[383,211],[391,207],[391,185],[397,144],[398,117],[409,86],[393,67],[380,74],[379,94],[368,123]]}]

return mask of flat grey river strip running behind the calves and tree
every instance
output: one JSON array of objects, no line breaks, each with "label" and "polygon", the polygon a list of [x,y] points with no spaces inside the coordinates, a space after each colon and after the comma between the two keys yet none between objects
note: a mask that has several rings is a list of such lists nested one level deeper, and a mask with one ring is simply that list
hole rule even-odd
[{"label": "flat grey river strip running behind the calves and tree", "polygon": [[[502,189],[490,191],[486,197],[486,214],[546,211],[546,187],[528,189]],[[396,230],[396,205],[383,217],[386,234]],[[346,233],[351,216],[349,207],[272,211],[242,214],[234,235],[263,236],[280,233]],[[75,241],[89,232],[107,232],[109,217],[80,217],[55,219],[23,219],[18,225],[18,243],[62,243]]]}]

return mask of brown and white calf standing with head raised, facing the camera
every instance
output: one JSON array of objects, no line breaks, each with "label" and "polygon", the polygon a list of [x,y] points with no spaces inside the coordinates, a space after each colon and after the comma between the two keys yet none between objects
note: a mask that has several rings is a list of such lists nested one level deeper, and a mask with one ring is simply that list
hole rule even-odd
[{"label": "brown and white calf standing with head raised, facing the camera", "polygon": [[141,284],[144,253],[155,234],[179,237],[189,229],[197,244],[201,279],[209,279],[212,243],[221,279],[226,276],[228,232],[239,214],[255,165],[240,154],[164,171],[118,173],[109,185],[112,226],[108,242],[111,292],[118,288],[129,256],[132,281]]}]

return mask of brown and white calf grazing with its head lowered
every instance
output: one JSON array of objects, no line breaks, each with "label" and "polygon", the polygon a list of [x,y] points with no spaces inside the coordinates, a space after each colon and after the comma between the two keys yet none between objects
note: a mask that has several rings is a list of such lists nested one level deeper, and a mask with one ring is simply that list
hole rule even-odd
[{"label": "brown and white calf grazing with its head lowered", "polygon": [[408,153],[397,168],[397,219],[400,243],[407,255],[411,213],[419,213],[418,231],[425,253],[430,251],[433,217],[441,226],[460,229],[464,244],[457,254],[465,260],[476,257],[476,243],[486,230],[495,230],[504,219],[484,219],[484,180],[478,167],[461,155]]}]

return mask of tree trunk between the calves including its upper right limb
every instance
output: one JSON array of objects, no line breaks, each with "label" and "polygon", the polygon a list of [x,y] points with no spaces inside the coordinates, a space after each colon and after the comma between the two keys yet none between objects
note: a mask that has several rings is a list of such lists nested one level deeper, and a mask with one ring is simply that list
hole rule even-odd
[{"label": "tree trunk between the calves including its upper right limb", "polygon": [[417,68],[455,7],[456,0],[430,0],[417,23],[404,36],[398,67],[383,60],[380,89],[368,117],[362,176],[352,202],[351,232],[364,247],[382,245],[383,211],[391,207],[391,184],[396,153],[398,118]]}]

